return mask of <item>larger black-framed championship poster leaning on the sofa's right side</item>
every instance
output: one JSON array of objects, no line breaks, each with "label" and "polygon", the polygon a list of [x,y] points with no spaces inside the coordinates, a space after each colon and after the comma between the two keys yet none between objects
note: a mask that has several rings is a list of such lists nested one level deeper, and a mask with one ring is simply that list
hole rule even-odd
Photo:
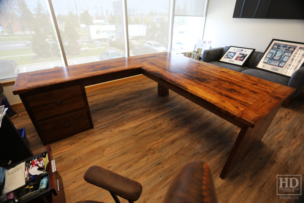
[{"label": "larger black-framed championship poster leaning on the sofa's right side", "polygon": [[291,77],[304,64],[304,43],[272,39],[256,68]]}]

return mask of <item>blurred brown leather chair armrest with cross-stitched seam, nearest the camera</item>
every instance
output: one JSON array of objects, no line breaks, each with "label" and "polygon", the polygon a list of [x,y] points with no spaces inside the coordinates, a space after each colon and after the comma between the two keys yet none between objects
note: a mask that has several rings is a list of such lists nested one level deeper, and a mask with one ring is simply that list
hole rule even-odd
[{"label": "blurred brown leather chair armrest with cross-stitched seam, nearest the camera", "polygon": [[183,166],[170,184],[163,202],[217,202],[208,164],[194,161]]}]

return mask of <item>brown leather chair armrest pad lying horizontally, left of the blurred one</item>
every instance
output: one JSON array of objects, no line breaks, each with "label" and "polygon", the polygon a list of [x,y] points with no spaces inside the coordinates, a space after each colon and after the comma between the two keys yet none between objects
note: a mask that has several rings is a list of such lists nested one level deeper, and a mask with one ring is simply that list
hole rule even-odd
[{"label": "brown leather chair armrest pad lying horizontally, left of the blurred one", "polygon": [[84,179],[88,183],[102,187],[103,189],[130,201],[136,201],[140,197],[143,189],[139,182],[99,166],[91,166],[85,172]]}]

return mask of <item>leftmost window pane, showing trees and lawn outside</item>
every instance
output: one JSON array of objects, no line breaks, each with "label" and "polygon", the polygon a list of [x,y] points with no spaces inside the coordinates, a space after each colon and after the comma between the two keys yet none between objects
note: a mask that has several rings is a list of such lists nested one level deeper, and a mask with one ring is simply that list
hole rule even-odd
[{"label": "leftmost window pane, showing trees and lawn outside", "polygon": [[0,32],[0,80],[64,65],[45,1],[1,0]]}]

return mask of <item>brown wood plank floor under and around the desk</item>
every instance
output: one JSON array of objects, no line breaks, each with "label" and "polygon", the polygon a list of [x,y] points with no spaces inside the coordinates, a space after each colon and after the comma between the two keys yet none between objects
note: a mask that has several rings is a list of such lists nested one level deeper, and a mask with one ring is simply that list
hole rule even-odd
[{"label": "brown wood plank floor under and around the desk", "polygon": [[[172,91],[157,95],[157,83],[147,78],[89,90],[87,96],[94,128],[50,145],[68,203],[114,202],[83,179],[92,165],[139,181],[137,202],[162,202],[181,166],[197,159],[209,164],[219,202],[287,202],[276,195],[276,175],[304,175],[303,98],[279,109],[262,142],[222,180],[219,173],[240,128]],[[25,109],[16,112],[13,123],[26,128],[33,153],[46,149]]]}]

